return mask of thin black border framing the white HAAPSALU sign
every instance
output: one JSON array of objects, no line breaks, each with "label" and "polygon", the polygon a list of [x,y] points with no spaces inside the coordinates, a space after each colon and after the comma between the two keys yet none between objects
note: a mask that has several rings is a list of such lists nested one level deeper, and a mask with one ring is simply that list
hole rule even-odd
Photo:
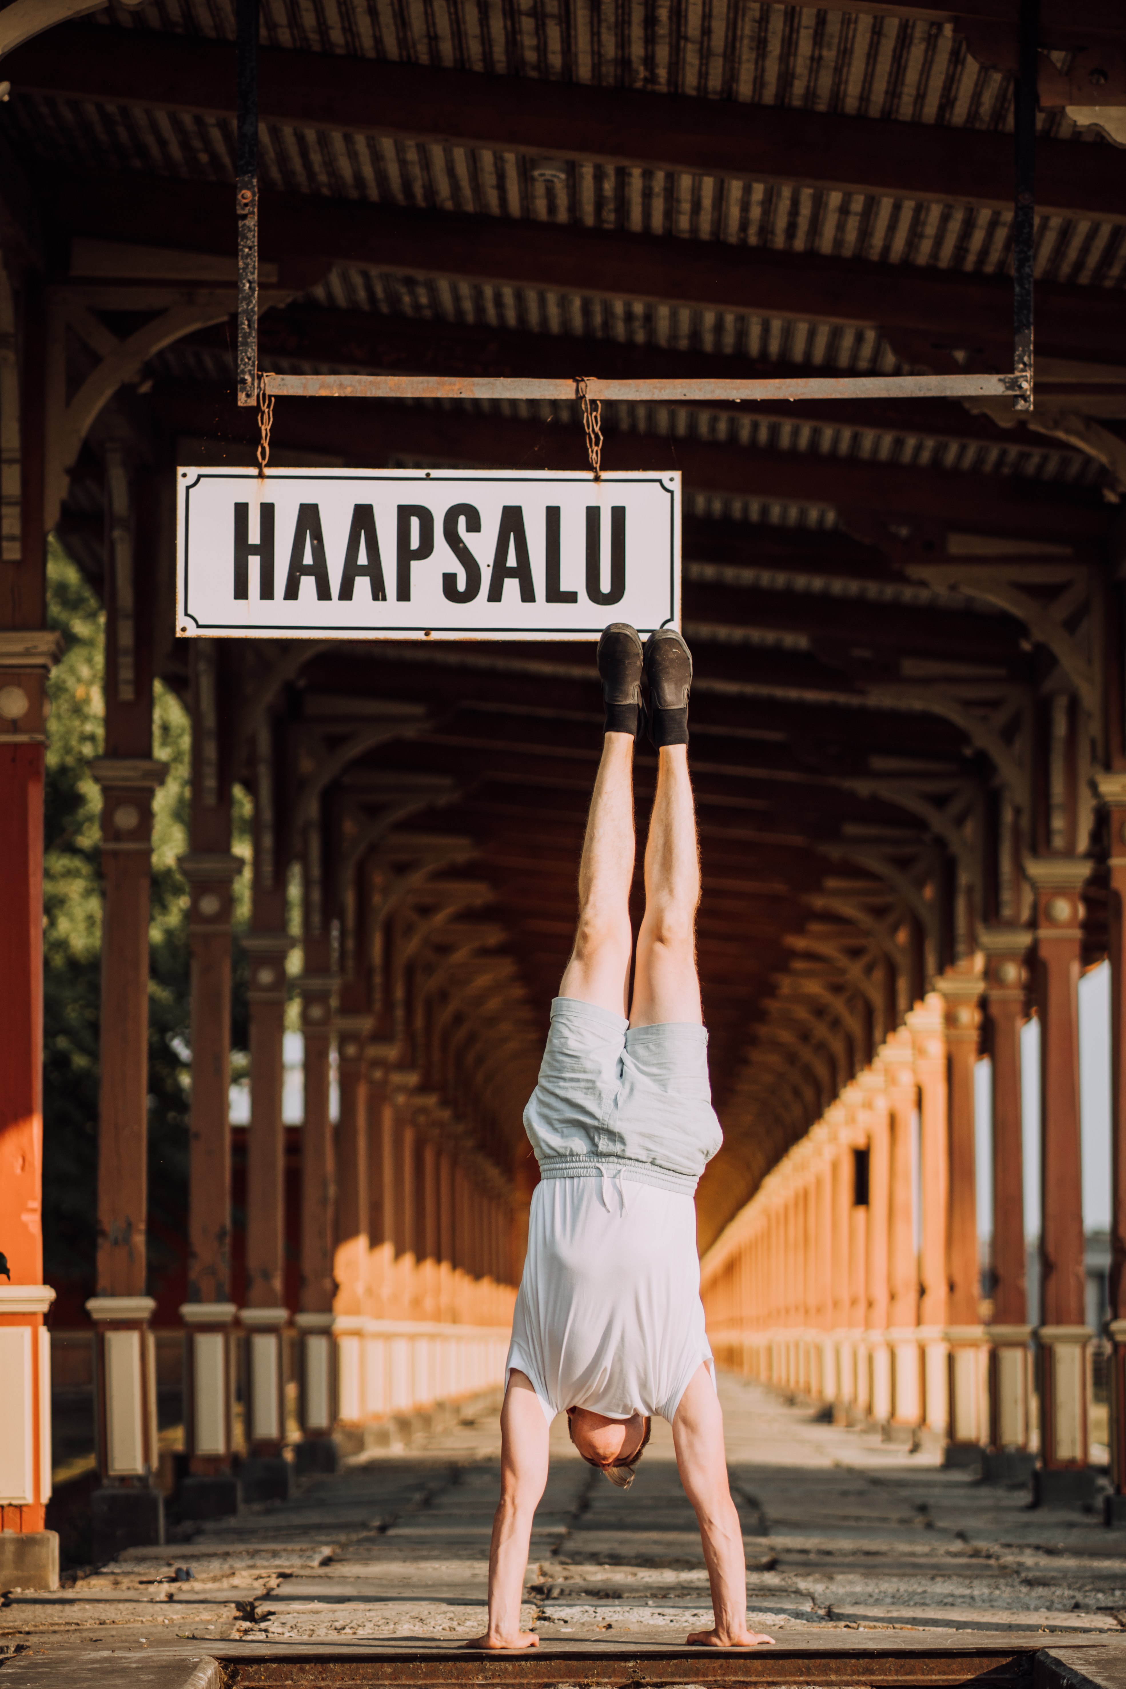
[{"label": "thin black border framing the white HAAPSALU sign", "polygon": [[[184,476],[184,475],[187,475],[187,470],[181,470],[179,473],[181,473],[181,476]],[[316,473],[316,471],[312,471],[312,473]],[[415,471],[402,471],[402,470],[348,470],[344,473],[336,473],[336,475],[331,473],[331,471],[321,471],[321,473],[326,475],[328,481],[351,481],[351,480],[370,481],[375,476],[380,481],[390,481],[390,483],[393,483],[393,481],[407,481],[410,485],[415,485],[419,480],[425,481],[425,480],[437,480],[439,476],[441,478],[449,476],[451,480],[452,478],[457,478],[457,480],[474,480],[476,478],[476,480],[483,480],[483,481],[491,481],[495,485],[496,483],[503,485],[506,481],[512,483],[512,485],[520,485],[520,486],[528,486],[528,485],[537,485],[537,486],[569,485],[569,486],[574,486],[576,485],[574,473],[564,475],[564,473],[557,471],[557,473],[552,475],[552,473],[544,471],[544,470],[532,470],[528,475],[513,475],[512,471],[496,471],[496,470],[430,470],[430,471],[425,471],[425,470],[415,470]],[[628,475],[630,481],[635,486],[638,485],[638,481],[641,481],[641,483],[655,481],[660,486],[662,493],[665,493],[667,498],[669,498],[669,618],[667,618],[667,622],[658,623],[660,627],[667,627],[670,622],[672,623],[677,622],[677,561],[675,561],[677,559],[677,532],[675,532],[675,513],[677,513],[675,512],[675,500],[677,500],[677,495],[675,495],[675,490],[665,483],[665,475],[674,475],[674,473],[677,473],[677,471],[665,470],[662,473],[662,471],[655,470],[652,475],[648,475],[647,471],[623,470],[618,475],[609,473],[609,475],[603,475],[603,478],[601,478],[603,483],[609,483],[609,485],[618,483],[618,485],[621,485],[623,478]],[[532,481],[532,476],[535,476],[537,480]],[[189,500],[189,493],[191,493],[191,490],[194,486],[198,486],[204,480],[206,481],[245,481],[248,478],[255,478],[257,480],[257,473],[252,471],[252,470],[199,470],[199,473],[196,475],[196,480],[189,481],[187,486],[182,488],[182,493],[184,493],[184,576],[182,576],[184,605],[181,606],[181,603],[179,603],[181,576],[179,576],[179,568],[177,568],[177,579],[176,579],[176,588],[177,588],[177,591],[176,591],[176,596],[177,596],[177,605],[176,605],[176,635],[177,635],[177,638],[191,638],[192,637],[192,635],[189,635],[189,633],[184,632],[184,628],[182,628],[184,622],[192,622],[196,625],[196,628],[199,630],[199,633],[213,633],[216,638],[270,638],[270,637],[272,638],[317,638],[319,637],[319,638],[339,638],[339,640],[348,640],[348,638],[373,638],[373,637],[375,638],[409,638],[410,635],[422,635],[422,637],[425,637],[427,632],[430,632],[430,633],[447,633],[447,635],[454,635],[456,638],[464,638],[464,640],[473,640],[473,638],[488,640],[488,638],[501,638],[501,637],[517,637],[517,638],[532,638],[532,640],[537,640],[537,638],[542,638],[542,640],[550,640],[550,638],[581,640],[581,638],[598,638],[598,635],[603,632],[603,627],[606,625],[606,623],[599,623],[598,627],[589,627],[589,628],[533,628],[533,630],[528,630],[527,627],[512,627],[512,628],[498,627],[498,628],[479,630],[479,628],[434,627],[434,625],[430,625],[430,628],[427,630],[424,627],[424,623],[419,622],[419,623],[412,623],[410,627],[393,627],[393,628],[388,628],[387,625],[380,625],[380,627],[358,625],[355,628],[339,628],[339,630],[331,628],[329,630],[329,628],[316,627],[316,625],[297,625],[297,627],[294,627],[292,623],[262,623],[262,622],[255,622],[253,625],[248,625],[245,628],[233,630],[230,623],[199,622],[198,616],[194,616],[192,611],[187,608],[187,598],[189,598],[187,557],[189,557],[189,522],[191,522],[191,500]],[[299,481],[299,480],[307,480],[307,478],[309,478],[309,471],[306,471],[304,475],[297,475],[292,470],[290,471],[287,471],[287,470],[272,470],[267,475],[267,481]],[[177,559],[177,562],[179,562],[179,559]]]}]

